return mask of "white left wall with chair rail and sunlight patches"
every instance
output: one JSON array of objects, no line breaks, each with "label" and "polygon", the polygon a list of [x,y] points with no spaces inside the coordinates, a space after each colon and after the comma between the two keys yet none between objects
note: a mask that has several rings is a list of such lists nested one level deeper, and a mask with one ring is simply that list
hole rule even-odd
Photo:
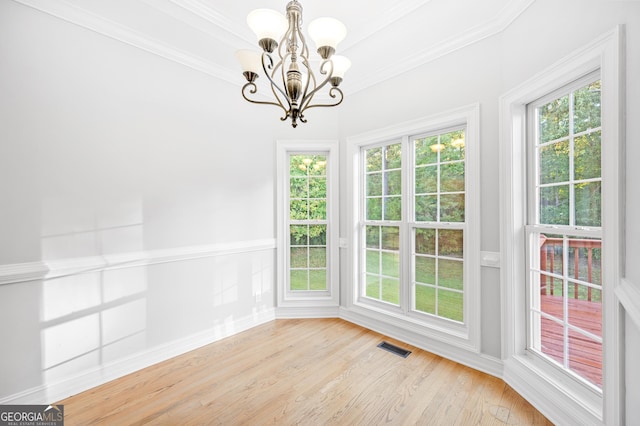
[{"label": "white left wall with chair rail and sunlight patches", "polygon": [[0,52],[0,402],[274,317],[275,140],[335,138],[335,112],[294,132],[239,85],[9,0]]}]

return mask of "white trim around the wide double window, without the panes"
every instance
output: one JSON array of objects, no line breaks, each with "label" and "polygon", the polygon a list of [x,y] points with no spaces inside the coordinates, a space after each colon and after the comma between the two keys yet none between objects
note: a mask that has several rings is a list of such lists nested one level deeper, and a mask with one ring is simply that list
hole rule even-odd
[{"label": "white trim around the wide double window, without the panes", "polygon": [[[411,336],[424,336],[438,343],[430,346],[436,353],[445,353],[449,358],[478,366],[477,360],[469,357],[469,352],[480,352],[480,173],[479,173],[479,137],[480,137],[480,105],[473,104],[455,110],[443,112],[419,120],[408,121],[394,126],[370,131],[361,135],[347,138],[347,197],[348,229],[347,241],[349,247],[347,283],[343,289],[342,316],[383,332],[403,335],[408,341]],[[407,135],[420,135],[440,129],[447,129],[464,125],[465,130],[465,193],[466,214],[465,221],[467,235],[465,238],[465,323],[463,326],[451,321],[434,318],[425,321],[423,316],[404,315],[385,309],[376,309],[375,304],[363,304],[358,301],[360,251],[359,237],[359,208],[361,207],[361,148],[389,141],[399,141]],[[403,153],[403,159],[408,158]],[[403,182],[403,188],[407,185]],[[406,193],[406,191],[405,191]],[[363,321],[364,319],[364,321]],[[358,321],[359,320],[359,321]],[[411,333],[410,335],[408,333]],[[448,346],[451,345],[451,346]],[[420,345],[419,345],[420,346]],[[424,345],[422,345],[424,346]],[[451,352],[451,347],[462,349]],[[442,348],[442,349],[440,349]],[[488,368],[490,369],[490,368]],[[485,369],[487,370],[487,369]]]}]

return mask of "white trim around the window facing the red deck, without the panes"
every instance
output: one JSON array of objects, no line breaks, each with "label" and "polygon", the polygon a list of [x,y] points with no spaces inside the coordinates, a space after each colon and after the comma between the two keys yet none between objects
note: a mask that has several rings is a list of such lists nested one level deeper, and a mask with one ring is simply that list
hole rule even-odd
[{"label": "white trim around the window facing the red deck, without the panes", "polygon": [[[624,194],[624,79],[623,28],[616,27],[588,46],[565,57],[500,98],[500,222],[501,306],[504,379],[552,421],[558,423],[621,424],[623,376],[620,304],[615,290],[620,284],[623,260]],[[526,105],[600,70],[602,81],[602,203],[603,237],[603,373],[599,392],[564,375],[553,376],[527,356],[525,304],[526,224]],[[615,242],[611,244],[610,242]]]}]

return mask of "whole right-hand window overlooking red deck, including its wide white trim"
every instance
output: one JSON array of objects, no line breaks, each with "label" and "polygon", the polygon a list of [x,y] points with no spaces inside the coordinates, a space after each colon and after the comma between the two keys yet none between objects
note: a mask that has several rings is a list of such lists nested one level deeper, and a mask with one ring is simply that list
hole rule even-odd
[{"label": "whole right-hand window overlooking red deck, including its wide white trim", "polygon": [[[504,377],[558,423],[623,423],[621,39],[616,28],[500,98]],[[578,305],[601,307],[600,325]]]}]

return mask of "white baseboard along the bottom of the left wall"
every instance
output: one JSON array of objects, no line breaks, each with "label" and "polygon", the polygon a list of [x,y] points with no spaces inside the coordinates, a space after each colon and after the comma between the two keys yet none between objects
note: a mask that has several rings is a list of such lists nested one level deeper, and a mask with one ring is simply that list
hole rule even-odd
[{"label": "white baseboard along the bottom of the left wall", "polygon": [[154,364],[185,354],[194,349],[217,342],[276,318],[275,309],[255,312],[232,323],[217,325],[200,333],[165,343],[144,352],[121,358],[95,369],[84,371],[63,381],[37,386],[0,399],[7,404],[51,404],[96,386],[126,376]]}]

